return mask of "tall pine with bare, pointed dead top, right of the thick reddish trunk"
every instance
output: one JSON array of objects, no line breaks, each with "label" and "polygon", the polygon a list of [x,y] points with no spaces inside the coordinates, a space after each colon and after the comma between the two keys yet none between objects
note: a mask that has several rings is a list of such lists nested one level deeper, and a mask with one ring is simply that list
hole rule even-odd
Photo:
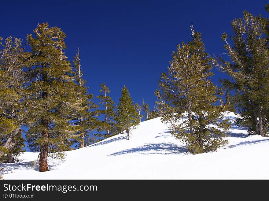
[{"label": "tall pine with bare, pointed dead top, right of the thick reddish trunk", "polygon": [[88,88],[85,84],[86,80],[83,80],[83,72],[80,64],[80,55],[79,48],[77,50],[76,56],[74,57],[73,64],[75,67],[75,81],[77,83],[75,94],[77,96],[78,101],[80,102],[78,107],[75,108],[73,120],[76,121],[75,125],[80,127],[78,135],[79,135],[79,148],[83,148],[86,144],[88,144],[90,136],[88,131],[95,130],[97,126],[97,112],[94,111],[98,107],[92,99],[93,94],[88,93]]}]

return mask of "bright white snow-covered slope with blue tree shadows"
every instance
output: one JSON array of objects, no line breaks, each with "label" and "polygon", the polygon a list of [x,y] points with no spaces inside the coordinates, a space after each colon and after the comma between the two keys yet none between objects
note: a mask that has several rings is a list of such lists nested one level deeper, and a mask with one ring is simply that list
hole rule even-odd
[{"label": "bright white snow-covered slope with blue tree shadows", "polygon": [[[231,121],[237,117],[227,113]],[[132,131],[82,149],[66,159],[49,160],[48,172],[30,164],[38,153],[24,153],[15,164],[3,164],[4,179],[269,179],[269,137],[247,135],[232,124],[229,144],[213,153],[192,155],[169,133],[160,118],[144,121]]]}]

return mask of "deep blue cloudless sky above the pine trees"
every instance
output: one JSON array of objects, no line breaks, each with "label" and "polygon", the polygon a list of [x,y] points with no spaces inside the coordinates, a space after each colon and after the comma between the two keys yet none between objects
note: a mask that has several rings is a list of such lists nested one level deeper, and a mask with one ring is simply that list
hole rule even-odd
[{"label": "deep blue cloudless sky above the pine trees", "polygon": [[[80,47],[84,80],[99,95],[101,83],[118,102],[126,85],[134,102],[144,98],[153,109],[158,79],[167,71],[171,52],[190,40],[190,25],[202,34],[210,55],[225,53],[221,35],[232,34],[232,19],[244,10],[268,17],[268,1],[1,1],[0,36],[24,40],[37,23],[48,22],[67,35],[70,61]],[[224,75],[215,70],[218,84]],[[94,100],[98,103],[98,100]]]}]

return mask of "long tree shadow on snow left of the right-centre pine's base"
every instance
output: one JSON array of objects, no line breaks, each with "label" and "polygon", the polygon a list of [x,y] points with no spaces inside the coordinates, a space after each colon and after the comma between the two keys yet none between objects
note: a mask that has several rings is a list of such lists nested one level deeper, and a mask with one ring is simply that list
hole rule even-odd
[{"label": "long tree shadow on snow left of the right-centre pine's base", "polygon": [[117,156],[123,154],[138,153],[138,154],[181,154],[188,153],[185,145],[179,146],[173,143],[152,143],[140,147],[126,149],[119,151],[108,156]]}]

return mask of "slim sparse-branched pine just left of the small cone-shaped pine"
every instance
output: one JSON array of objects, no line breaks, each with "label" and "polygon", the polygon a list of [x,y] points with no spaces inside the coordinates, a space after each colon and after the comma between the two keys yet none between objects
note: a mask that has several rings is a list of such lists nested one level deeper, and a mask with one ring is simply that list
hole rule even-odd
[{"label": "slim sparse-branched pine just left of the small cone-shaped pine", "polygon": [[108,95],[110,93],[109,87],[105,86],[105,84],[101,83],[101,89],[99,90],[101,95],[97,96],[96,98],[99,99],[99,104],[102,105],[105,109],[104,110],[97,110],[98,114],[104,114],[105,120],[101,125],[101,130],[106,131],[106,136],[109,137],[110,133],[115,130],[114,128],[114,117],[115,114],[115,106],[114,101]]}]

